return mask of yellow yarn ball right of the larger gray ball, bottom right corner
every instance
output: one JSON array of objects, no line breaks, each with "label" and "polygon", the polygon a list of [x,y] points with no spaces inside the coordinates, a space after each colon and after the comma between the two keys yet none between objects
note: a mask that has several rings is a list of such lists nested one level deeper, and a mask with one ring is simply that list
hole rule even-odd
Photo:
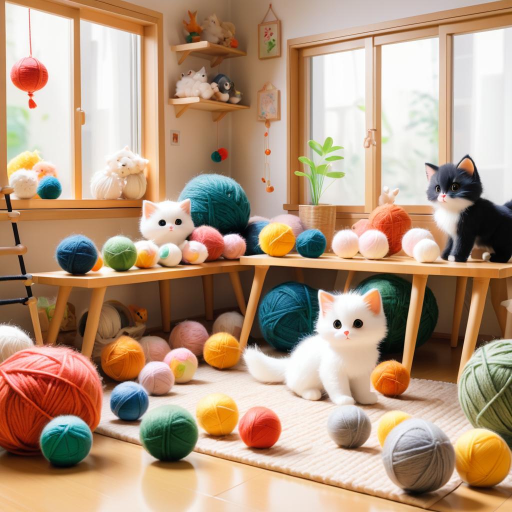
[{"label": "yellow yarn ball right of the larger gray ball, bottom right corner", "polygon": [[460,479],[475,487],[499,484],[510,471],[507,443],[494,432],[473,429],[455,443],[455,468]]}]

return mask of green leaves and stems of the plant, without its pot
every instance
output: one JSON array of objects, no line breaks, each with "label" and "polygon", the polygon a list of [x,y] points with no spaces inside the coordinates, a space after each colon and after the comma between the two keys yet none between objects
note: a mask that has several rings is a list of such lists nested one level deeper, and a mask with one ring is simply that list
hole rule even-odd
[{"label": "green leaves and stems of the plant, without its pot", "polygon": [[[320,202],[322,194],[327,188],[332,185],[331,182],[327,187],[324,188],[324,180],[326,178],[339,179],[345,176],[345,173],[339,171],[331,171],[331,162],[336,160],[343,160],[344,157],[339,155],[327,156],[330,153],[334,153],[338,150],[343,150],[343,146],[333,146],[332,137],[327,137],[324,144],[320,144],[314,140],[308,141],[309,147],[320,157],[315,158],[311,153],[311,159],[308,157],[298,157],[298,161],[302,162],[305,166],[309,167],[309,173],[303,173],[300,170],[295,171],[295,176],[304,176],[309,180],[309,190],[311,192],[311,202],[317,206]],[[316,160],[316,161],[315,161]],[[305,167],[306,168],[306,167]]]}]

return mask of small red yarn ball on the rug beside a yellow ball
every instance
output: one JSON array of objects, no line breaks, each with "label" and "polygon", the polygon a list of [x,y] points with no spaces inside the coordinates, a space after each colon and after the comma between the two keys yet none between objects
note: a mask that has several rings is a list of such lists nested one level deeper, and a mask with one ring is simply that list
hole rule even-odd
[{"label": "small red yarn ball on the rug beside a yellow ball", "polygon": [[250,448],[270,448],[281,435],[281,421],[266,407],[252,407],[240,419],[238,433]]}]

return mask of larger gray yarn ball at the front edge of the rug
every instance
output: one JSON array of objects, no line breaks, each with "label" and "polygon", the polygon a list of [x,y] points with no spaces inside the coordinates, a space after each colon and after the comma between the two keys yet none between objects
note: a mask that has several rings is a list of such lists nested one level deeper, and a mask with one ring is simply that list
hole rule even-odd
[{"label": "larger gray yarn ball at the front edge of the rug", "polygon": [[437,425],[413,418],[402,421],[389,433],[382,462],[388,476],[402,489],[430,493],[450,480],[455,451]]}]

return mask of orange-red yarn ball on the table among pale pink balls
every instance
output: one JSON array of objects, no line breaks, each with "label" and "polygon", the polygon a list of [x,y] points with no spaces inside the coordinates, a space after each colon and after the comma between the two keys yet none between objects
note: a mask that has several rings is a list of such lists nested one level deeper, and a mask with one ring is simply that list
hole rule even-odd
[{"label": "orange-red yarn ball on the table among pale pink balls", "polygon": [[377,206],[368,217],[369,228],[378,229],[388,239],[388,256],[400,252],[403,235],[411,229],[412,220],[406,210],[393,203]]}]

